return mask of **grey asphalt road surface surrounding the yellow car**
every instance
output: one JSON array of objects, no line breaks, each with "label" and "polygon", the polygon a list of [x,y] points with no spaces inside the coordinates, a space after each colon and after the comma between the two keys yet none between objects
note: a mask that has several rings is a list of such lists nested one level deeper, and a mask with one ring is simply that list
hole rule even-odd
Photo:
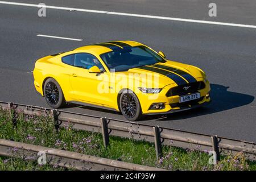
[{"label": "grey asphalt road surface surrounding the yellow car", "polygon": [[[214,1],[217,17],[212,18],[208,1],[19,2],[256,25],[253,0]],[[207,107],[146,116],[140,123],[256,142],[256,28],[57,9],[46,13],[39,17],[37,7],[0,4],[0,101],[48,107],[36,94],[30,73],[37,59],[90,43],[135,40],[163,51],[168,59],[202,68],[212,88],[212,104]],[[125,119],[115,111],[93,107],[65,110]]]}]

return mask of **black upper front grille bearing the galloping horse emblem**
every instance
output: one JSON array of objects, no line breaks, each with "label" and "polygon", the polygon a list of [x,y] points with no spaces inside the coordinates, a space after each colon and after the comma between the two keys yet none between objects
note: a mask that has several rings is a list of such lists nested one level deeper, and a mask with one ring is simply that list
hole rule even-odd
[{"label": "black upper front grille bearing the galloping horse emblem", "polygon": [[[171,97],[171,96],[183,96],[188,93],[194,93],[197,92],[197,90],[201,90],[205,88],[205,84],[203,81],[197,81],[185,85],[179,85],[175,86],[174,88],[171,88],[166,96]],[[187,90],[185,90],[187,89]]]}]

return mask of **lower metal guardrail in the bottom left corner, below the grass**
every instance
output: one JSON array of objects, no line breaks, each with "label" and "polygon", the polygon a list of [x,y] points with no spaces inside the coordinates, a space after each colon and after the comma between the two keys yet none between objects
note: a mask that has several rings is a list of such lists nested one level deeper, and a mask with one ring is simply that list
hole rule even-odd
[{"label": "lower metal guardrail in the bottom left corner, below the grass", "polygon": [[160,168],[142,166],[138,164],[131,164],[121,162],[118,160],[111,160],[105,158],[98,158],[80,154],[77,152],[58,150],[55,148],[47,148],[42,146],[35,146],[27,143],[13,142],[10,140],[0,139],[0,155],[14,156],[19,158],[38,158],[38,152],[46,152],[46,161],[49,164],[60,167],[73,168],[78,170],[134,170],[134,171],[159,171],[164,170]]}]

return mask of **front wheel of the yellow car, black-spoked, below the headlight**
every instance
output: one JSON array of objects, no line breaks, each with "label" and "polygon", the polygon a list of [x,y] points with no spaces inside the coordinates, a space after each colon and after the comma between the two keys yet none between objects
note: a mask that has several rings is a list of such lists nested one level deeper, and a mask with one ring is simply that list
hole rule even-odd
[{"label": "front wheel of the yellow car, black-spoked, below the headlight", "polygon": [[122,115],[129,121],[138,121],[142,117],[141,104],[139,104],[138,97],[131,90],[121,93],[119,108]]}]

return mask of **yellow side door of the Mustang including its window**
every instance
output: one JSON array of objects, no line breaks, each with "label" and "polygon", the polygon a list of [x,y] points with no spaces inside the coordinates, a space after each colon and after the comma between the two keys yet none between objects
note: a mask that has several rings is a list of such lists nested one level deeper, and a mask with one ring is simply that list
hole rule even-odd
[{"label": "yellow side door of the Mustang including its window", "polygon": [[[102,73],[89,73],[89,68],[94,65],[100,68]],[[102,90],[99,88],[106,74],[95,56],[89,53],[76,53],[70,79],[76,101],[108,107],[111,103],[108,93],[101,93]]]}]

